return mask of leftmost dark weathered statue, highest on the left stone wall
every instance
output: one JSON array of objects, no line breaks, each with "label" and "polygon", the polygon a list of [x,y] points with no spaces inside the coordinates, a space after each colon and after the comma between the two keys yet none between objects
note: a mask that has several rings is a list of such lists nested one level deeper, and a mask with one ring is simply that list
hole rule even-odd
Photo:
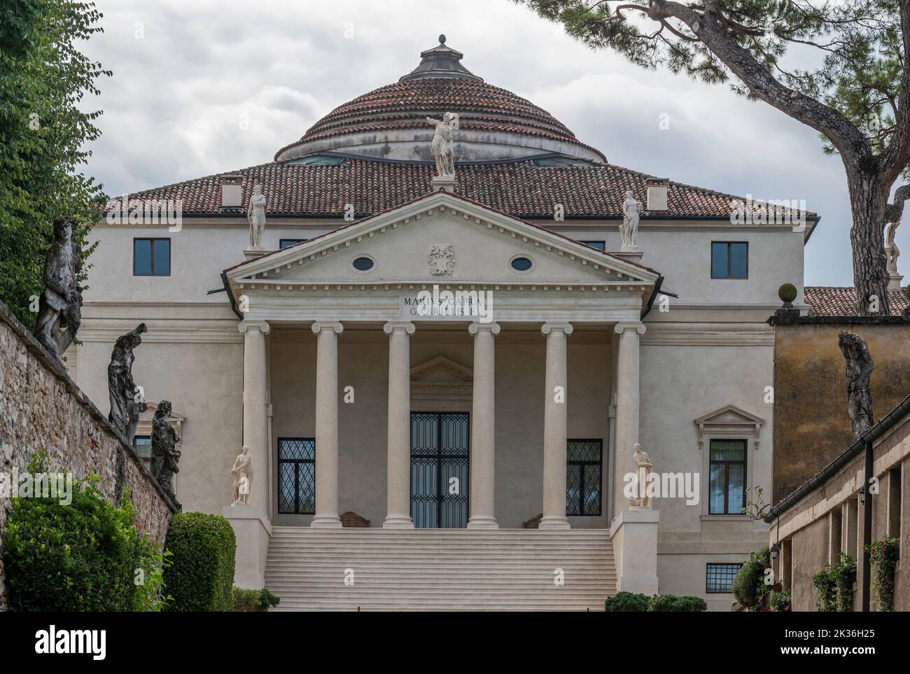
[{"label": "leftmost dark weathered statue, highest on the left stone wall", "polygon": [[73,240],[76,221],[54,220],[54,243],[45,258],[45,291],[38,301],[35,338],[58,359],[76,338],[82,321],[82,292],[76,277],[82,270],[82,248]]}]

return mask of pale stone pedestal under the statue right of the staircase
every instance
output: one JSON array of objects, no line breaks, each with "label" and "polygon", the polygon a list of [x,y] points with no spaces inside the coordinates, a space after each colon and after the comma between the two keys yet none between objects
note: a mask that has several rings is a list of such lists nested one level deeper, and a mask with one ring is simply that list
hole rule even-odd
[{"label": "pale stone pedestal under the statue right of the staircase", "polygon": [[616,560],[616,591],[656,595],[657,526],[661,513],[631,507],[613,518],[610,538]]}]

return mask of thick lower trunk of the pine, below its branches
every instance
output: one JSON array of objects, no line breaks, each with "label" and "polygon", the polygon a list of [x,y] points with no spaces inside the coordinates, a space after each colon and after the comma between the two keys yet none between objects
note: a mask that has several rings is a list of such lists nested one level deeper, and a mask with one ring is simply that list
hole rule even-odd
[{"label": "thick lower trunk of the pine, below its branches", "polygon": [[[874,175],[846,167],[853,227],[854,285],[860,316],[888,316],[888,271],[885,255],[885,207],[888,191]],[[876,301],[877,299],[877,301]]]}]

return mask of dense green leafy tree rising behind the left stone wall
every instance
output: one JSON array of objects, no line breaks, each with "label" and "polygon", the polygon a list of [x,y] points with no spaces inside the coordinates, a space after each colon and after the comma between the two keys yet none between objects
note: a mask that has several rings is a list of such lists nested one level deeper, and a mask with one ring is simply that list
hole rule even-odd
[{"label": "dense green leafy tree rising behind the left stone wall", "polygon": [[76,43],[102,30],[100,18],[95,5],[66,0],[4,0],[0,8],[0,301],[29,328],[54,219],[76,220],[87,257],[94,246],[86,234],[105,200],[101,186],[78,172],[101,115],[79,106],[110,72]]}]

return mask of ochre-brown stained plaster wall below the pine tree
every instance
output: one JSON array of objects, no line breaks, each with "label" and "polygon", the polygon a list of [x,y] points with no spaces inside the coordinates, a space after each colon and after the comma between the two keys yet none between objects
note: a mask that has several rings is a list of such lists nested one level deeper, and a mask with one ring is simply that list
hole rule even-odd
[{"label": "ochre-brown stained plaster wall below the pine tree", "polygon": [[[910,322],[901,318],[774,321],[773,503],[827,465],[854,441],[847,415],[844,356],[837,333],[865,338],[875,362],[875,421],[910,393]],[[851,322],[852,321],[852,322]]]}]

